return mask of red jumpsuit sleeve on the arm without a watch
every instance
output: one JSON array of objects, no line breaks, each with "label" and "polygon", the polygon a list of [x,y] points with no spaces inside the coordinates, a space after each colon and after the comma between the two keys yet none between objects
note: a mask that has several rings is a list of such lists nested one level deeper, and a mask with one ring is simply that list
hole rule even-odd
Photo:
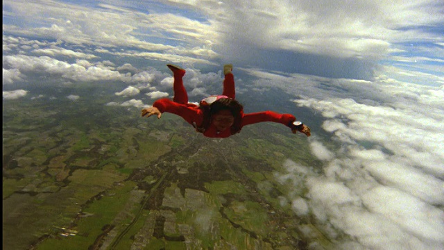
[{"label": "red jumpsuit sleeve on the arm without a watch", "polygon": [[153,103],[153,107],[157,108],[161,113],[167,112],[178,115],[185,119],[189,124],[201,124],[203,122],[202,112],[196,105],[181,104],[164,98]]}]

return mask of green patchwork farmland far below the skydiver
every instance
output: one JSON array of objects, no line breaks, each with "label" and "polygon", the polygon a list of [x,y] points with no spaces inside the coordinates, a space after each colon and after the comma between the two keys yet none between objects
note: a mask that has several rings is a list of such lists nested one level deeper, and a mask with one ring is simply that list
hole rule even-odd
[{"label": "green patchwork farmland far below the skydiver", "polygon": [[275,126],[208,139],[173,115],[70,102],[4,106],[7,249],[294,249],[317,233],[275,178],[285,160],[321,166],[307,139]]}]

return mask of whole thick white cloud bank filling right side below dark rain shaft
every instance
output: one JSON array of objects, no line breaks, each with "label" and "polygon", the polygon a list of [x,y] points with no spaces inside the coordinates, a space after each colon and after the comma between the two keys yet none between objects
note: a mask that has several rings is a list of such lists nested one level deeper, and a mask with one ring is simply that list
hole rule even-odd
[{"label": "whole thick white cloud bank filling right side below dark rain shaft", "polygon": [[291,171],[296,164],[288,160],[274,174],[289,190],[285,197],[296,215],[314,215],[316,228],[341,242],[336,248],[440,249],[443,85],[386,76],[370,82],[253,73],[261,77],[255,88],[273,84],[299,96],[294,102],[321,115],[321,127],[336,144],[327,149],[316,134],[308,140],[314,156],[324,161],[320,174],[303,166],[298,168],[307,174]]}]

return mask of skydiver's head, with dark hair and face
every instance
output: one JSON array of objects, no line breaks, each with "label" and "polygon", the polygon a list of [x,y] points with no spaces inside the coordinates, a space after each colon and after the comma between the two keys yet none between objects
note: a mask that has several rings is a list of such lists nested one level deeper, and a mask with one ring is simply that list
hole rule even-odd
[{"label": "skydiver's head, with dark hair and face", "polygon": [[238,132],[243,110],[244,106],[234,99],[219,99],[210,105],[211,122],[218,131],[231,128],[233,132]]}]

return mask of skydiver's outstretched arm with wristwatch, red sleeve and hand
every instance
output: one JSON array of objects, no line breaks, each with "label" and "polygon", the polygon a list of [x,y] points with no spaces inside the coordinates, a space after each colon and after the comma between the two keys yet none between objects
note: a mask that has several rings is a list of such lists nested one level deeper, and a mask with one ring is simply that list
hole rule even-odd
[{"label": "skydiver's outstretched arm with wristwatch, red sleeve and hand", "polygon": [[264,111],[258,113],[245,114],[242,118],[242,126],[256,124],[259,122],[277,122],[284,124],[291,128],[291,132],[300,132],[307,136],[311,135],[310,128],[308,126],[294,126],[293,122],[296,121],[296,117],[290,114],[280,114],[273,111]]}]

